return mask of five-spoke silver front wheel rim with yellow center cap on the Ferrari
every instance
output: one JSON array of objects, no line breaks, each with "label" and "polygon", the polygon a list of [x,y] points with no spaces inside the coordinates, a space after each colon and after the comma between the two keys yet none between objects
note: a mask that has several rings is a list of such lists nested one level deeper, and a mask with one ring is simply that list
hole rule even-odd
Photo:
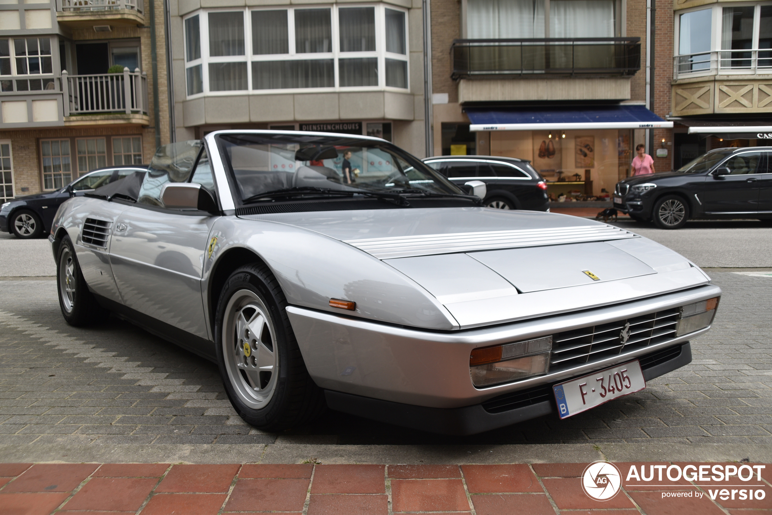
[{"label": "five-spoke silver front wheel rim with yellow center cap on the Ferrari", "polygon": [[222,353],[236,395],[252,409],[273,397],[279,377],[276,330],[268,308],[256,293],[239,290],[225,307]]}]

